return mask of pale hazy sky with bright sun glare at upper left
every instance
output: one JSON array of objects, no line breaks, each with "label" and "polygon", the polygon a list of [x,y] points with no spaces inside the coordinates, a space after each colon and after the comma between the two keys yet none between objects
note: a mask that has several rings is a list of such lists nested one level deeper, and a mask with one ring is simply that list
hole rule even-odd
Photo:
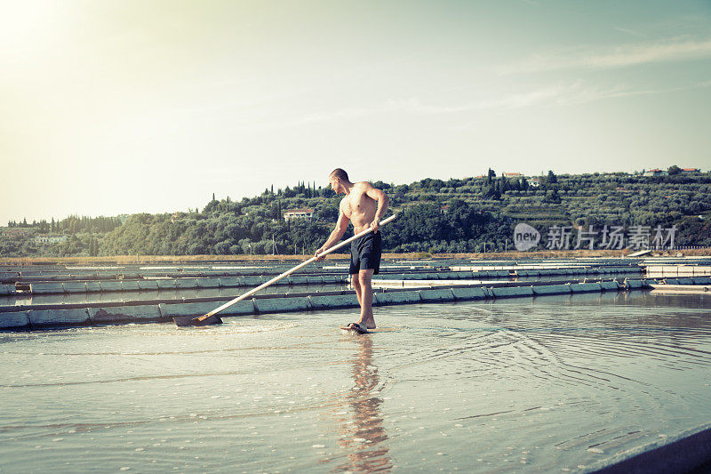
[{"label": "pale hazy sky with bright sun glare at upper left", "polygon": [[0,225],[711,169],[711,1],[0,0]]}]

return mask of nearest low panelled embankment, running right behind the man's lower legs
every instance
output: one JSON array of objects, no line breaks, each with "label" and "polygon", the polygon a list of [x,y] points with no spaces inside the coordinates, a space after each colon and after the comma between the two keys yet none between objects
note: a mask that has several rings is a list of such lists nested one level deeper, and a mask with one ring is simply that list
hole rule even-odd
[{"label": "nearest low panelled embankment, running right behind the man's lower legs", "polygon": [[[563,285],[515,285],[484,287],[451,285],[420,289],[391,289],[375,293],[375,306],[391,304],[433,303],[445,301],[474,301],[537,297],[551,294],[638,290],[649,288],[649,281],[627,279],[595,283]],[[656,283],[656,282],[653,282]],[[173,316],[201,316],[228,297],[183,300],[124,301],[116,303],[74,303],[65,305],[34,305],[30,307],[0,308],[0,329],[42,329],[81,325],[106,325],[169,321]],[[355,308],[358,306],[352,291],[324,293],[294,293],[260,295],[224,310],[221,316],[243,316],[309,309]]]}]

